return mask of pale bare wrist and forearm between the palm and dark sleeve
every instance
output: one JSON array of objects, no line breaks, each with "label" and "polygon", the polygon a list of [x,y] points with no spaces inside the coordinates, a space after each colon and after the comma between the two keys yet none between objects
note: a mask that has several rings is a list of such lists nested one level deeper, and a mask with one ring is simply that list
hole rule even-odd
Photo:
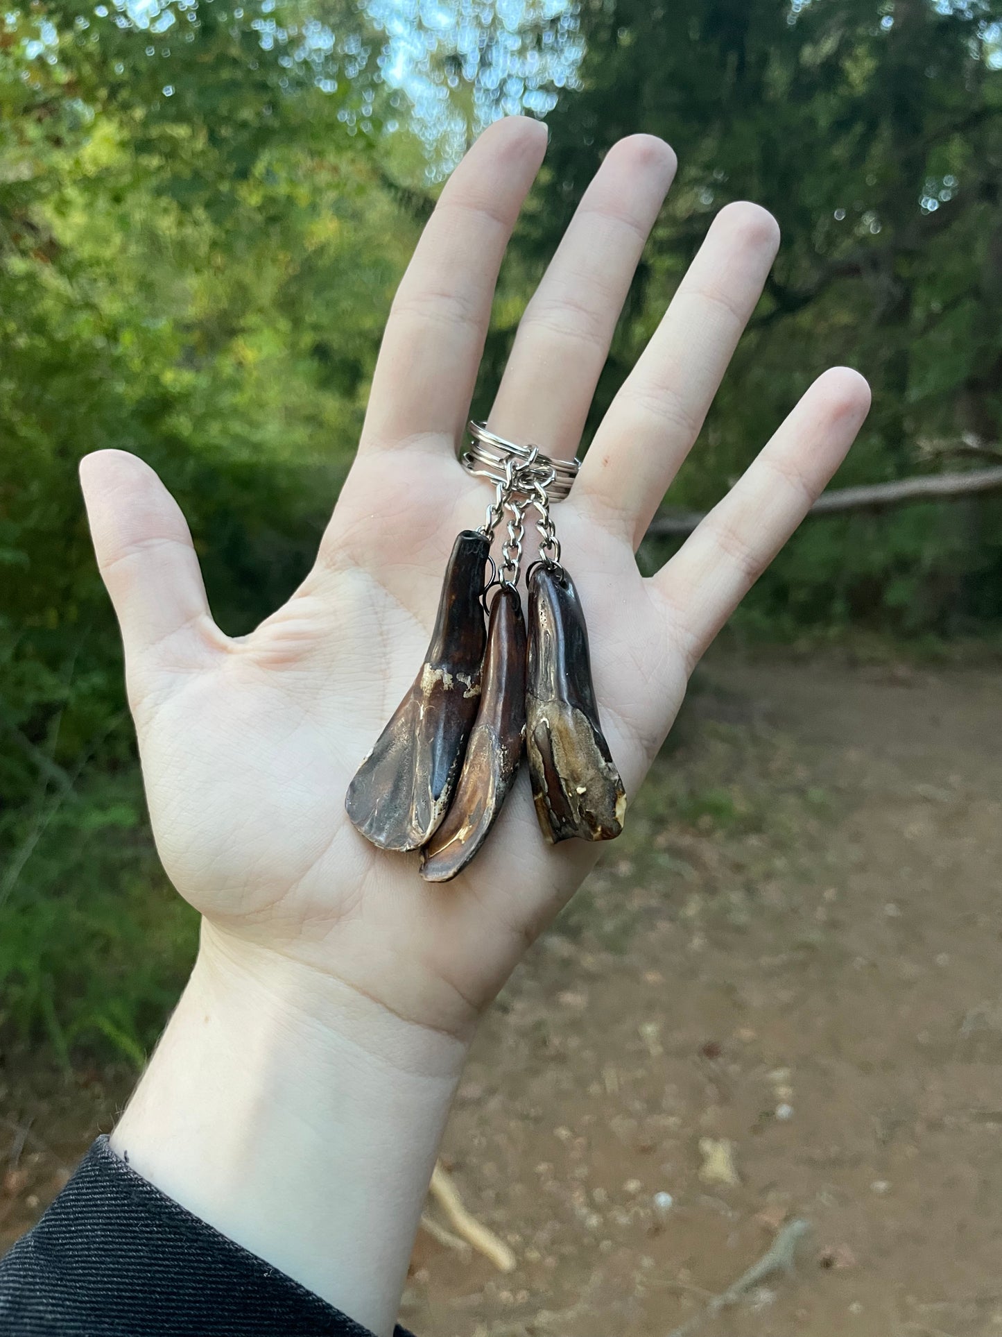
[{"label": "pale bare wrist and forearm between the palm and dark sleeve", "polygon": [[465,1044],[203,929],[114,1150],[383,1337]]}]

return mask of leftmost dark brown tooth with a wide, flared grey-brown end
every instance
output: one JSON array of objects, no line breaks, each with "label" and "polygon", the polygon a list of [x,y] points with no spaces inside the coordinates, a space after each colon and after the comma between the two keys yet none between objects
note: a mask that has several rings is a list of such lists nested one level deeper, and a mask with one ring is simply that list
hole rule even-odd
[{"label": "leftmost dark brown tooth with a wide, flared grey-brown end", "polygon": [[420,849],[452,801],[480,703],[489,551],[482,533],[457,537],[421,673],[349,785],[347,816],[381,849]]}]

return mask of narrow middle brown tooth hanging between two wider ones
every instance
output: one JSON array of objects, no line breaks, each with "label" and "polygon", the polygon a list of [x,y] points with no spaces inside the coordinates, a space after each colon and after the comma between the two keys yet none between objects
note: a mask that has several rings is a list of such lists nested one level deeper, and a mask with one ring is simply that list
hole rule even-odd
[{"label": "narrow middle brown tooth hanging between two wider ones", "polygon": [[456,797],[421,854],[426,882],[461,873],[488,838],[525,742],[525,619],[518,591],[501,586],[490,608],[484,691]]}]

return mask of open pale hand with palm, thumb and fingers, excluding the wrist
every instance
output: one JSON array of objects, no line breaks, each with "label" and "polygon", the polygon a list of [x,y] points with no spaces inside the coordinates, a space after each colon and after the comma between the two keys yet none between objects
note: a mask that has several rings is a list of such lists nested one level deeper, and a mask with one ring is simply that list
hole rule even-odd
[{"label": "open pale hand with palm, thumb and fingers, excluding the wrist", "polygon": [[[651,142],[640,146],[648,164],[657,162]],[[438,223],[429,226],[405,279],[406,299],[398,298],[387,328],[366,437],[317,566],[253,635],[228,640],[212,624],[183,520],[150,471],[115,452],[91,457],[84,471],[95,544],[123,626],[158,849],[175,886],[214,924],[227,951],[255,944],[282,953],[399,1016],[454,1034],[470,1027],[600,848],[548,845],[522,773],[481,854],[454,882],[430,885],[417,876],[417,856],[371,848],[349,822],[343,802],[351,775],[421,663],[454,535],[476,528],[490,495],[454,459],[477,348],[466,357],[470,365],[454,372],[445,365],[448,349],[441,354],[437,374],[452,400],[446,421],[429,422],[410,440],[394,433],[391,422],[414,420],[422,388],[414,385],[407,396],[390,392],[389,382],[402,361],[418,356],[417,334],[428,338],[440,326],[436,301],[470,344],[469,309],[477,303],[462,295],[470,278],[456,259],[460,225],[453,214],[473,234],[470,269],[482,270],[486,233],[476,234],[462,191],[476,195],[489,185],[500,197],[506,190],[513,217],[540,147],[530,124],[496,127],[453,178]],[[620,245],[612,261],[604,258],[613,281],[601,293],[584,283],[595,309],[576,298],[557,321],[565,271],[577,269],[582,286],[581,255],[593,241],[587,230],[597,226],[588,217],[613,214],[612,203],[603,214],[603,187],[609,199],[619,198],[620,213],[629,213],[617,182],[603,180],[629,166],[623,147],[619,159],[627,162],[615,159],[611,154],[589,191],[589,207],[582,206],[582,235],[572,246],[565,242],[570,254],[557,257],[537,294],[536,316],[530,308],[522,322],[492,416],[516,439],[521,432],[522,439],[549,441],[562,431],[562,448],[573,451],[580,433],[619,309],[615,297],[621,301],[636,263],[636,234],[644,219],[648,227],[653,221],[671,174],[663,152],[660,175],[635,190],[632,209],[641,217],[628,219],[633,242]],[[744,222],[732,219],[729,231],[717,225],[716,239],[711,233],[707,242],[716,254],[704,269],[724,281],[727,251],[732,269],[741,270],[743,289],[736,297],[733,290],[712,291],[696,261],[696,277],[687,279],[691,297],[680,290],[600,429],[574,493],[554,512],[588,616],[604,731],[628,796],[679,709],[699,652],[824,485],[866,412],[858,377],[822,378],[679,556],[657,576],[640,576],[635,543],[692,444],[775,246],[767,215],[737,209],[745,210]],[[496,213],[478,226],[497,231]],[[437,237],[436,226],[445,235]],[[498,259],[502,242],[494,237]],[[490,279],[489,257],[486,270]],[[444,294],[446,273],[454,290]],[[693,340],[681,325],[692,322],[687,302],[700,301],[704,337]],[[489,287],[477,306],[481,338],[488,314]],[[409,328],[422,320],[424,329]],[[585,336],[574,321],[595,344],[591,364],[580,356]],[[526,398],[540,374],[540,340],[548,341],[550,380],[552,364],[561,358],[577,368],[568,370],[562,389],[552,389],[556,418],[541,424],[550,435],[534,422],[509,425],[518,416],[512,405]],[[659,340],[668,346],[657,348]],[[520,342],[526,345],[521,357]],[[667,357],[679,364],[671,377]],[[676,381],[689,384],[688,398]]]}]

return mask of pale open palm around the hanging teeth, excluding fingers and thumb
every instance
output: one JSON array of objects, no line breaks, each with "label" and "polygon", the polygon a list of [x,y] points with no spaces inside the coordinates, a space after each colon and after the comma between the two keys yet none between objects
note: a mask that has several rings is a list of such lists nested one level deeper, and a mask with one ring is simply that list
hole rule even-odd
[{"label": "pale open palm around the hanging teeth, excluding fingers and thumb", "polygon": [[[168,667],[136,703],[150,808],[175,886],[228,933],[398,1015],[462,1029],[599,846],[548,845],[525,775],[488,848],[442,886],[349,822],[349,781],[421,663],[452,540],[480,521],[485,495],[454,460],[407,463],[391,489],[365,472],[338,504],[330,564],[244,640],[210,634],[194,673]],[[578,554],[604,725],[632,792],[681,699],[683,654],[629,545],[596,543],[572,503],[558,520],[568,562]],[[406,968],[387,972],[389,960]]]}]

